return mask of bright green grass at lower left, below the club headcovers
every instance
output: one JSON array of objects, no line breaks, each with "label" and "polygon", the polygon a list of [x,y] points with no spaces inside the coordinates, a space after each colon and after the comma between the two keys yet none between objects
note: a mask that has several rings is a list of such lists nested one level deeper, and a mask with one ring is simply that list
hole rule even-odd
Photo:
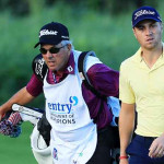
[{"label": "bright green grass at lower left, below the club headcovers", "polygon": [[30,142],[32,125],[22,125],[22,134],[19,138],[0,136],[0,159],[2,164],[37,164],[35,161]]}]

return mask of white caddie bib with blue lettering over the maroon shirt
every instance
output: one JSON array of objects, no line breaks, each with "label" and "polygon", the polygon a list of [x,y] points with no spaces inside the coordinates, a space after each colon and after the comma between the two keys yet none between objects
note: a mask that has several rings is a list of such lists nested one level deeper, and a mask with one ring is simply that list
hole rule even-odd
[{"label": "white caddie bib with blue lettering over the maroon shirt", "polygon": [[82,96],[77,65],[75,73],[68,74],[60,83],[49,84],[46,77],[44,93],[46,117],[52,127],[50,148],[54,163],[85,164],[95,151],[97,131]]}]

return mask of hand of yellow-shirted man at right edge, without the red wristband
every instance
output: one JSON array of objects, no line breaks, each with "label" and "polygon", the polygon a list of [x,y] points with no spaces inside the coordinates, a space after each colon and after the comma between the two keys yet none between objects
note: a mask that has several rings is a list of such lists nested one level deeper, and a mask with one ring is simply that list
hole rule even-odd
[{"label": "hand of yellow-shirted man at right edge, without the red wristband", "polygon": [[149,151],[150,157],[164,156],[164,133],[152,142]]}]

